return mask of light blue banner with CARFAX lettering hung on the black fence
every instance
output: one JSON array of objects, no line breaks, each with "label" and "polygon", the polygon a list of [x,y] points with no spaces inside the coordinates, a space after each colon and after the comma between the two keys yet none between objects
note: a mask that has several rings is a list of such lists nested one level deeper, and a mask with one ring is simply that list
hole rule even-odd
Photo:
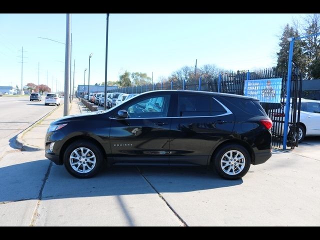
[{"label": "light blue banner with CARFAX lettering hung on the black fence", "polygon": [[245,96],[258,98],[260,102],[280,103],[282,78],[245,80]]}]

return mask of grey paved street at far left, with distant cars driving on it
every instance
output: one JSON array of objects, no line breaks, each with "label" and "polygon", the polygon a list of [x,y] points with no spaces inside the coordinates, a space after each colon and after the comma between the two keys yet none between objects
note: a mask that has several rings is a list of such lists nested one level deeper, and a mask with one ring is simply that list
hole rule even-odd
[{"label": "grey paved street at far left, with distant cars driving on it", "polygon": [[[42,101],[29,101],[25,97],[0,97],[0,159],[12,150],[9,141],[22,130],[33,124],[56,106],[44,106]],[[12,146],[12,144],[11,144]]]}]

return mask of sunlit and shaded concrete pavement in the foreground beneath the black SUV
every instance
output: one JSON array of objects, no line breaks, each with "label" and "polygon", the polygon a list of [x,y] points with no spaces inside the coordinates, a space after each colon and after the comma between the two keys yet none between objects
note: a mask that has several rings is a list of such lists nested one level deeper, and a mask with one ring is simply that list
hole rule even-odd
[{"label": "sunlit and shaded concrete pavement in the foreground beneath the black SUV", "polygon": [[0,159],[0,225],[318,226],[319,172],[320,137],[274,150],[235,181],[203,167],[145,166],[77,179],[43,151],[14,151]]}]

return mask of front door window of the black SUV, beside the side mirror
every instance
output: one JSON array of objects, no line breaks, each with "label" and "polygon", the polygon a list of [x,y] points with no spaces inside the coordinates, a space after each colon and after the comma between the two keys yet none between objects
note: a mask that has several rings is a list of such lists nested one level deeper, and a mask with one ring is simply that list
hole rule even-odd
[{"label": "front door window of the black SUV, beside the side mirror", "polygon": [[143,98],[127,105],[124,110],[129,118],[166,117],[169,100],[169,95]]}]

